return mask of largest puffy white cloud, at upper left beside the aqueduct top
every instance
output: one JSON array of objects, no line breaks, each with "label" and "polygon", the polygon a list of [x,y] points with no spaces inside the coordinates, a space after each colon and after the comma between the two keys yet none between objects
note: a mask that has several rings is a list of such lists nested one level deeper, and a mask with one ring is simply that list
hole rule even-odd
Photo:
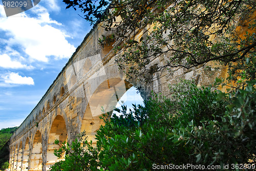
[{"label": "largest puffy white cloud, at upper left beside the aqueduct top", "polygon": [[[1,9],[3,15],[2,5]],[[11,37],[5,42],[7,46],[20,47],[32,60],[47,62],[49,57],[69,58],[75,47],[69,44],[66,40],[68,36],[63,31],[54,27],[61,24],[50,18],[46,8],[36,5],[32,9],[36,17],[30,17],[24,12],[0,17],[0,30]]]}]

